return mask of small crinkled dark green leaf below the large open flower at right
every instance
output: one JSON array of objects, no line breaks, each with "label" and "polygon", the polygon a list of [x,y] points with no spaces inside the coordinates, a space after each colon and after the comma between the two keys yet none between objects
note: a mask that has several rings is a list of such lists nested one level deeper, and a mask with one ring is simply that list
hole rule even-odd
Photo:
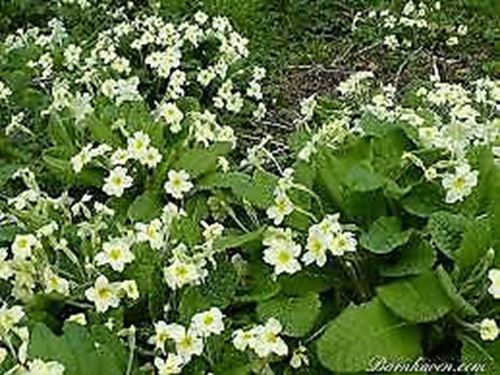
[{"label": "small crinkled dark green leaf below the large open flower at right", "polygon": [[431,215],[427,230],[437,248],[453,258],[453,252],[460,246],[466,225],[467,219],[462,215],[440,211]]}]

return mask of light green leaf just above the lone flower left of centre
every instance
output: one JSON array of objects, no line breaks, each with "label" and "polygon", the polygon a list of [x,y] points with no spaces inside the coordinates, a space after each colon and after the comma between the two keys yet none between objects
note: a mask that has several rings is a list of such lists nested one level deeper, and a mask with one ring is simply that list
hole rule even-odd
[{"label": "light green leaf just above the lone flower left of centre", "polygon": [[231,145],[220,143],[208,148],[195,148],[184,151],[174,163],[173,169],[184,169],[191,177],[198,177],[207,172],[215,171],[217,159],[231,151]]}]

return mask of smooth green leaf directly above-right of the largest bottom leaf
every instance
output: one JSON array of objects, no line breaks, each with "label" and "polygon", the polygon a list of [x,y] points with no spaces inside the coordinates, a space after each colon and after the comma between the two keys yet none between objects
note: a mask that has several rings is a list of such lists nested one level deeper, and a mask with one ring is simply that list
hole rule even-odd
[{"label": "smooth green leaf directly above-right of the largest bottom leaf", "polygon": [[433,272],[380,286],[377,295],[396,315],[415,323],[437,320],[453,307]]}]

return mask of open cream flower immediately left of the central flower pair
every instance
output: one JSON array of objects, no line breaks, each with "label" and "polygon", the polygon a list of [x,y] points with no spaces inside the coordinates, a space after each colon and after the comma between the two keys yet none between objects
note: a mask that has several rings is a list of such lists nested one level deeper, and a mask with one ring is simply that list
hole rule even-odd
[{"label": "open cream flower immediately left of the central flower pair", "polygon": [[297,258],[300,255],[300,245],[293,241],[278,241],[264,250],[264,261],[274,266],[274,273],[283,272],[294,274],[300,271],[301,266]]}]

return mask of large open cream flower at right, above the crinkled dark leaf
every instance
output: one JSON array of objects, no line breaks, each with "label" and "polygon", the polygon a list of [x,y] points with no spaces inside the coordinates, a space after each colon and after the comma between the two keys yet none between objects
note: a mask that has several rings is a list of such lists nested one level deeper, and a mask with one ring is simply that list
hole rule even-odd
[{"label": "large open cream flower at right, above the crinkled dark leaf", "polygon": [[462,164],[455,168],[455,173],[448,173],[443,177],[443,187],[446,190],[446,203],[462,201],[472,192],[477,185],[478,172],[471,171],[468,164]]}]

